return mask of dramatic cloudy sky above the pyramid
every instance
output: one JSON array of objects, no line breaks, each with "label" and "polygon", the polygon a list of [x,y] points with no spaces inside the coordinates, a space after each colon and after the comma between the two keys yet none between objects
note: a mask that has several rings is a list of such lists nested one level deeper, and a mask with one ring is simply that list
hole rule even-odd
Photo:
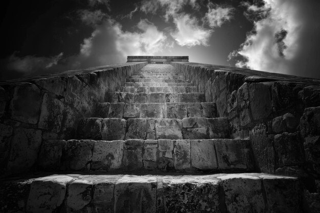
[{"label": "dramatic cloudy sky above the pyramid", "polygon": [[189,56],[320,79],[318,0],[33,0],[1,7],[0,80]]}]

